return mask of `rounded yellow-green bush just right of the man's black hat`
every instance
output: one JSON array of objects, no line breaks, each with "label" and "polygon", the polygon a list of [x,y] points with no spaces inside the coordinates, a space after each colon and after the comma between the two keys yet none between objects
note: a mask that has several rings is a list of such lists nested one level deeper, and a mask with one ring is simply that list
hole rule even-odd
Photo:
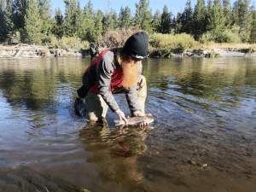
[{"label": "rounded yellow-green bush just right of the man's black hat", "polygon": [[185,33],[177,35],[154,33],[149,37],[149,44],[152,48],[165,50],[166,54],[170,54],[172,49],[200,49],[200,43]]}]

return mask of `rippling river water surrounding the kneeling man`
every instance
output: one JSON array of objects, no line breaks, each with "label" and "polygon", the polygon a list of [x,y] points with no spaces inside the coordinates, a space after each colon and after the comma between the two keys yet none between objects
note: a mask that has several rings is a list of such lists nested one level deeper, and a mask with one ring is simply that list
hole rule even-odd
[{"label": "rippling river water surrounding the kneeling man", "polygon": [[256,191],[255,59],[143,61],[147,130],[74,113],[90,62],[0,60],[0,191]]}]

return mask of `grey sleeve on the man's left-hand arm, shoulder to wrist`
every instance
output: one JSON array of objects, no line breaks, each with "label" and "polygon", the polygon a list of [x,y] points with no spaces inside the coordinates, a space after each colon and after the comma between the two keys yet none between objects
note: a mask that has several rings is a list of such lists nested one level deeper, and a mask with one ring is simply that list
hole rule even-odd
[{"label": "grey sleeve on the man's left-hand arm, shoulder to wrist", "polygon": [[119,109],[119,105],[114,100],[113,94],[110,91],[112,73],[113,61],[111,58],[103,56],[96,73],[98,84],[97,89],[99,90],[103,100],[108,104],[108,107],[115,112]]}]

